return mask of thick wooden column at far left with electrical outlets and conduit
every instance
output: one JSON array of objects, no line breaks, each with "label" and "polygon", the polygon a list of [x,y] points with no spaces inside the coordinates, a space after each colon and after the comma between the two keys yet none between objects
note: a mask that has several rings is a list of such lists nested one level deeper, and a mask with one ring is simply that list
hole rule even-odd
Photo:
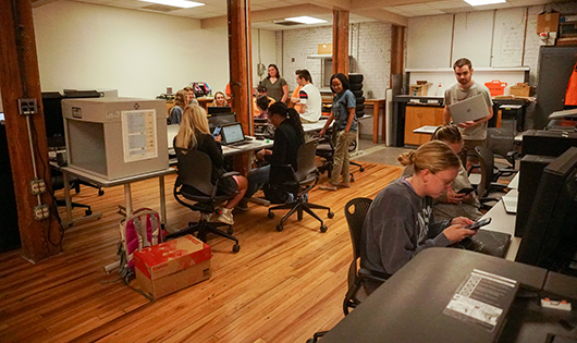
[{"label": "thick wooden column at far left with electrical outlets and conduit", "polygon": [[[36,169],[39,179],[47,182],[49,188],[51,176],[30,1],[0,1],[0,91],[16,195],[22,255],[36,262],[60,253],[62,246],[60,226],[54,215],[57,208],[49,193],[40,196],[40,203],[50,209],[50,218],[37,221],[33,211],[38,206],[37,196],[30,193],[30,181],[36,177],[34,170]],[[39,113],[28,115],[32,147],[26,115],[19,114],[17,99],[36,99],[38,105]]]}]

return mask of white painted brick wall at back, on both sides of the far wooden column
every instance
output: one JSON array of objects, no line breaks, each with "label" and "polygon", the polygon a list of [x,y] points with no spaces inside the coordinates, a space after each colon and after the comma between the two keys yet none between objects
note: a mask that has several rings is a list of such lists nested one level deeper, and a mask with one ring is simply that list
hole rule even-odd
[{"label": "white painted brick wall at back, on both sides of the far wooden column", "polygon": [[[296,87],[294,72],[297,69],[308,70],[312,82],[321,83],[322,60],[308,59],[307,56],[317,54],[318,45],[327,42],[332,42],[332,26],[277,33],[277,64],[290,89]],[[384,98],[391,71],[391,25],[378,22],[351,24],[348,51],[353,57],[349,72],[365,76],[365,96]]]}]

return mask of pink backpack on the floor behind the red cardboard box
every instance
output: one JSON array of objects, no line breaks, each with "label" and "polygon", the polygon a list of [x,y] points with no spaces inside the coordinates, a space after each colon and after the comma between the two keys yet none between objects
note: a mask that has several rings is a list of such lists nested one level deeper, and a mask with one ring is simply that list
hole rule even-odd
[{"label": "pink backpack on the floor behind the red cardboard box", "polygon": [[158,212],[149,208],[132,211],[120,222],[120,275],[127,283],[134,277],[134,252],[163,241]]}]

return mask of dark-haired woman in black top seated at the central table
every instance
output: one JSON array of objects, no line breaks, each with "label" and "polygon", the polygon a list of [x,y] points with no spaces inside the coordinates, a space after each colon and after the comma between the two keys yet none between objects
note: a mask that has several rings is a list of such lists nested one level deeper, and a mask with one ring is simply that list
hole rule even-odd
[{"label": "dark-haired woman in black top seated at the central table", "polygon": [[262,149],[257,152],[257,158],[270,164],[254,169],[248,173],[245,200],[249,199],[266,182],[281,184],[293,179],[290,170],[271,169],[271,166],[291,164],[295,170],[298,168],[296,152],[305,144],[300,117],[294,109],[288,109],[284,102],[274,102],[269,107],[269,120],[277,127],[272,150]]}]

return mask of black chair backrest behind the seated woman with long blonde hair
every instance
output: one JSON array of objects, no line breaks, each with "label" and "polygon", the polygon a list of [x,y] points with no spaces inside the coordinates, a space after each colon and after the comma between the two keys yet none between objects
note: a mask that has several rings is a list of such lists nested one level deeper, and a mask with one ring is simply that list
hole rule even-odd
[{"label": "black chair backrest behind the seated woman with long blonde hair", "polygon": [[205,152],[198,150],[176,150],[179,159],[179,177],[176,186],[187,185],[207,196],[212,194],[212,161]]}]

